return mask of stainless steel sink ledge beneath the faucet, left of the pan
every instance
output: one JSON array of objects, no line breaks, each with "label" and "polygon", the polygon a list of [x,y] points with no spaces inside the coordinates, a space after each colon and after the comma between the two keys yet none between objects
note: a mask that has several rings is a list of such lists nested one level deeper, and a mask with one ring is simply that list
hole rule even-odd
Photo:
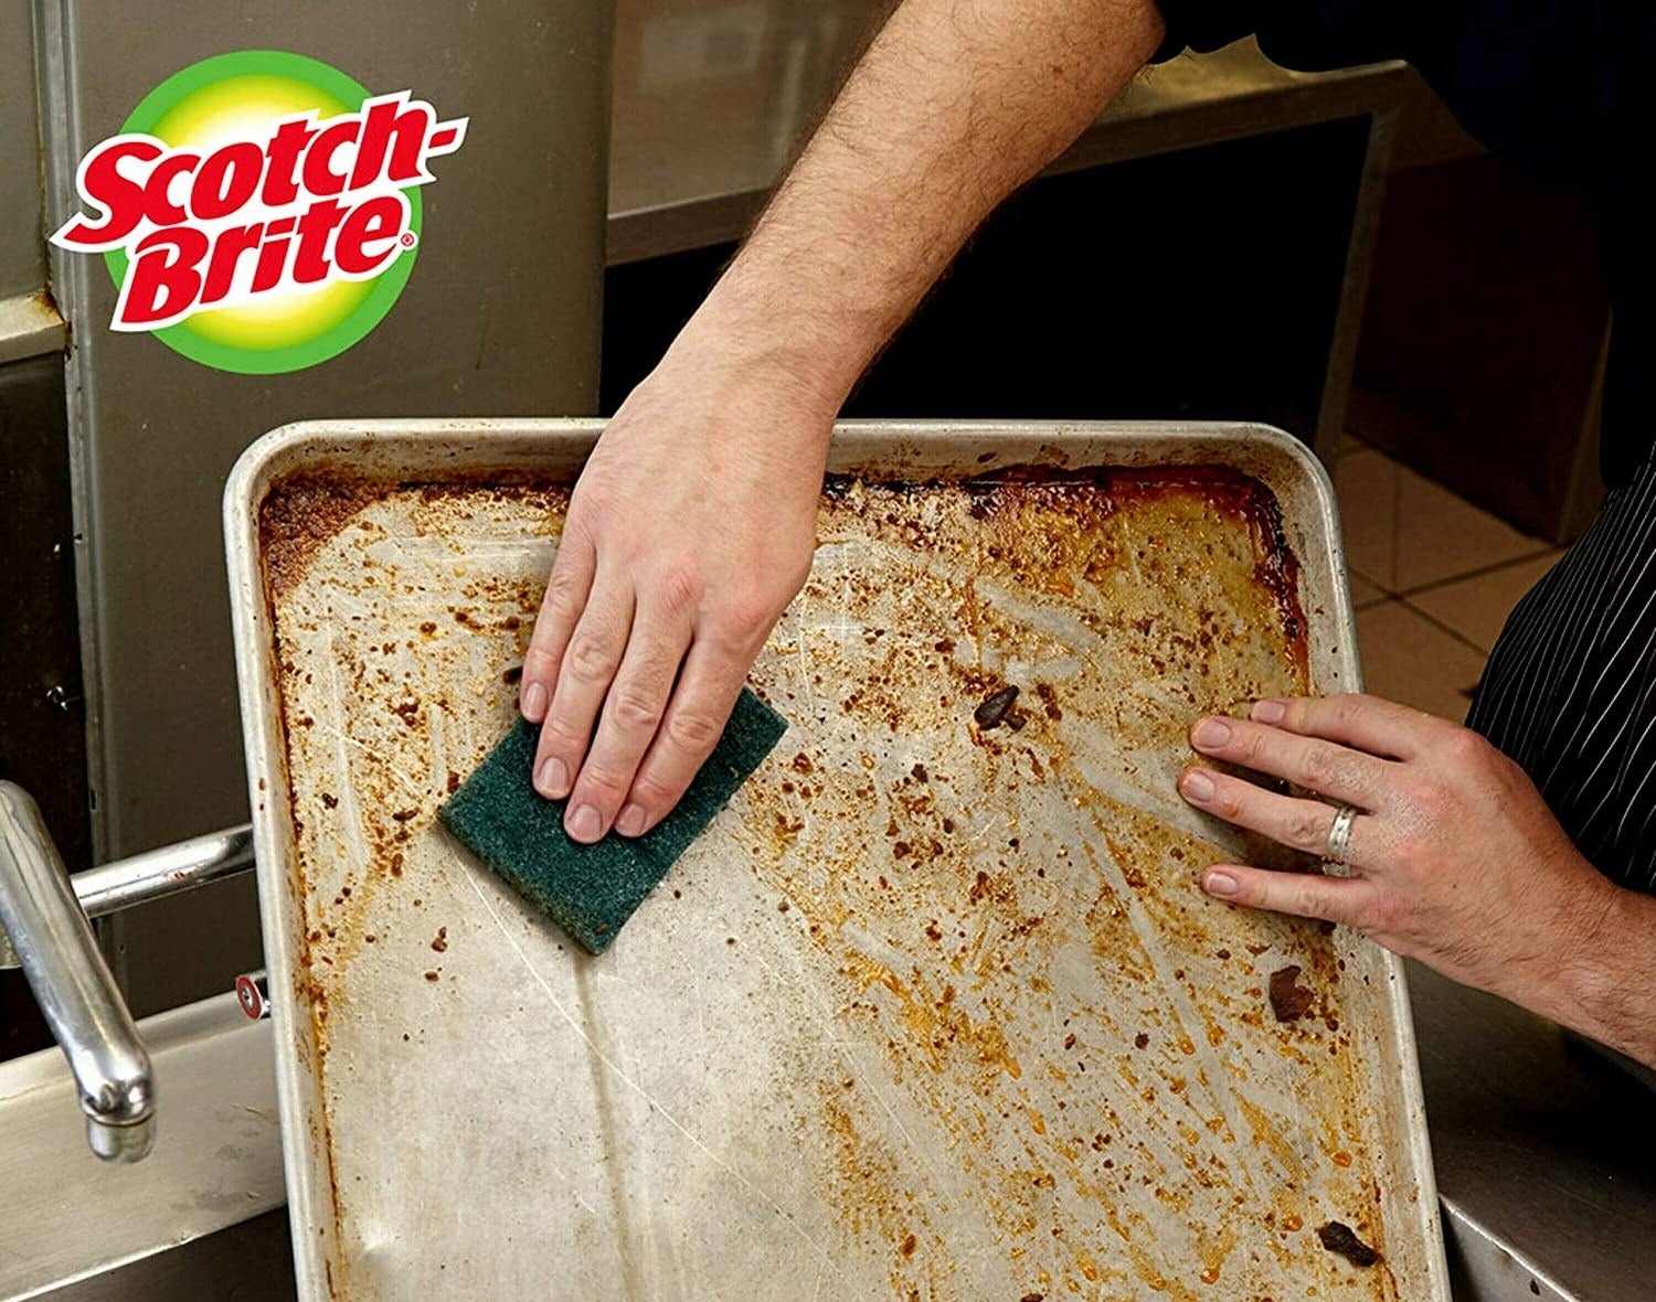
[{"label": "stainless steel sink ledge beneath the faucet, left of the pan", "polygon": [[154,1151],[99,1161],[58,1049],[0,1062],[0,1299],[293,1299],[272,1022],[237,996],[139,1022]]}]

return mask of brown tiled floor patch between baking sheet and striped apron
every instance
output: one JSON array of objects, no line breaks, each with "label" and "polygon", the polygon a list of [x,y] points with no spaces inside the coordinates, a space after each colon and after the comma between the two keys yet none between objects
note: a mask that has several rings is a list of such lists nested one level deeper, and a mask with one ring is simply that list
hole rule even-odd
[{"label": "brown tiled floor patch between baking sheet and striped apron", "polygon": [[1353,438],[1333,480],[1368,690],[1459,721],[1507,612],[1560,551]]}]

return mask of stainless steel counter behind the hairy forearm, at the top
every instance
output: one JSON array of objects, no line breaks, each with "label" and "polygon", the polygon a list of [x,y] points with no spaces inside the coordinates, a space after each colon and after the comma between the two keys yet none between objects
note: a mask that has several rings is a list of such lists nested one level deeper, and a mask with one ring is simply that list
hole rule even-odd
[{"label": "stainless steel counter behind the hairy forearm, at the top", "polygon": [[[737,238],[889,0],[619,0],[609,261]],[[1250,43],[1148,69],[1053,170],[1383,112],[1403,66],[1302,74]]]}]

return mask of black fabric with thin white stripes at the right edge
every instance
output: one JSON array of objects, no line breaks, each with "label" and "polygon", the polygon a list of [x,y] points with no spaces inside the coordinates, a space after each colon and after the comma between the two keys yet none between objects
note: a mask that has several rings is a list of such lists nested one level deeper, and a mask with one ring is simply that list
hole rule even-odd
[{"label": "black fabric with thin white stripes at the right edge", "polygon": [[1514,609],[1467,726],[1600,872],[1656,890],[1656,458]]}]

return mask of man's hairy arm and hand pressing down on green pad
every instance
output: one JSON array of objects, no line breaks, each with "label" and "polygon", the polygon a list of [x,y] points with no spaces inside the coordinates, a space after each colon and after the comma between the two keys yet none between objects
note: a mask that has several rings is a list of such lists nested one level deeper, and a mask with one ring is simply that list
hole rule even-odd
[{"label": "man's hairy arm and hand pressing down on green pad", "polygon": [[874,40],[576,485],[520,687],[571,837],[677,802],[805,582],[840,404],[1161,33],[1153,0],[907,0]]}]

